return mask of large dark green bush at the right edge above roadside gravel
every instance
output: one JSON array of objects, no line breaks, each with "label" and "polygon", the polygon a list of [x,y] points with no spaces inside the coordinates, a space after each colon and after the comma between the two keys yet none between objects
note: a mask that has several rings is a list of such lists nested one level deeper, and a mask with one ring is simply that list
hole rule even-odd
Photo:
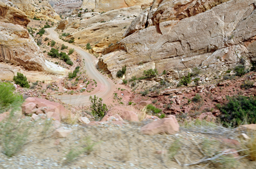
[{"label": "large dark green bush at the right edge above roadside gravel", "polygon": [[[236,127],[241,124],[256,123],[256,98],[246,96],[226,96],[228,103],[221,106],[220,116],[224,126]],[[231,124],[230,124],[231,123]]]}]

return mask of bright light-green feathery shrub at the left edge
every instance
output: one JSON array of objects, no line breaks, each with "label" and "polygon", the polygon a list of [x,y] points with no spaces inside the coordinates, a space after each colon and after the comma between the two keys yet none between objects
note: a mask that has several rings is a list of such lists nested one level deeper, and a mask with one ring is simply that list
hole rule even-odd
[{"label": "bright light-green feathery shrub at the left edge", "polygon": [[15,88],[12,84],[0,83],[0,113],[8,111],[9,108],[18,107],[22,103],[22,95],[14,93],[14,91]]}]

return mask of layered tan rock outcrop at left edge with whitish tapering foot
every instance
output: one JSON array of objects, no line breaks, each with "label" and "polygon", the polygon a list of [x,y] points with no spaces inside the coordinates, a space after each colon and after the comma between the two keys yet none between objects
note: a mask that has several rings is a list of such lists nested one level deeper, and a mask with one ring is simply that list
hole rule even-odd
[{"label": "layered tan rock outcrop at left edge with whitish tapering foot", "polygon": [[25,13],[3,3],[0,3],[0,8],[0,61],[2,62],[1,72],[6,73],[6,77],[9,71],[12,72],[13,76],[16,73],[15,70],[18,71],[20,68],[13,69],[13,66],[7,66],[5,63],[22,66],[25,70],[62,75],[67,73],[66,69],[45,59],[34,39],[28,33],[27,24],[30,20]]}]

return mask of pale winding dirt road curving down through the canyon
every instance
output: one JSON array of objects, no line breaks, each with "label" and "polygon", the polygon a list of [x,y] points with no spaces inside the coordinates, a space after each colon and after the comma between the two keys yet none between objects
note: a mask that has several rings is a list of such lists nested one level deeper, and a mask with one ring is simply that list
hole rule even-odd
[{"label": "pale winding dirt road curving down through the canyon", "polygon": [[48,37],[58,43],[64,44],[70,48],[74,48],[76,52],[81,55],[82,59],[84,59],[85,61],[84,66],[87,70],[88,76],[92,79],[95,79],[98,83],[98,86],[100,86],[100,88],[97,91],[94,90],[91,93],[85,93],[81,95],[55,95],[54,97],[60,99],[61,101],[67,104],[71,104],[74,106],[89,105],[90,104],[89,97],[91,95],[96,95],[97,97],[102,98],[103,101],[105,99],[109,99],[114,92],[114,83],[110,79],[106,79],[95,68],[94,63],[96,63],[97,61],[96,58],[93,57],[93,55],[81,49],[80,47],[77,47],[75,45],[62,41],[61,39],[59,39],[59,35],[54,30],[55,30],[55,27],[46,29],[46,31],[49,33]]}]

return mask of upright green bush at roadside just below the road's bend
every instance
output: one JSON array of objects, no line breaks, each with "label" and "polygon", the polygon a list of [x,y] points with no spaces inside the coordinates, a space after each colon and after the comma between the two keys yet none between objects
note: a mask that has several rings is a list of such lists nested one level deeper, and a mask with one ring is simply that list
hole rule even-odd
[{"label": "upright green bush at roadside just below the road's bend", "polygon": [[90,108],[93,116],[101,120],[109,112],[109,106],[102,103],[103,100],[101,98],[98,99],[95,95],[94,97],[90,96],[89,100],[91,102]]}]

